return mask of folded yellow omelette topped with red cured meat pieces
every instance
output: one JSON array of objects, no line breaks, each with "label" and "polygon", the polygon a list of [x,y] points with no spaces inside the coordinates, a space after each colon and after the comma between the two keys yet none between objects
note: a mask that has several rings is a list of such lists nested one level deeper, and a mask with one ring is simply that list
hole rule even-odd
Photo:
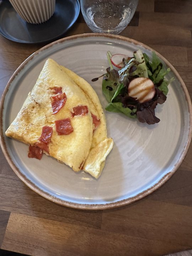
[{"label": "folded yellow omelette topped with red cured meat pieces", "polygon": [[91,85],[48,59],[20,112],[6,130],[29,146],[28,157],[42,153],[98,178],[113,148],[106,119]]}]

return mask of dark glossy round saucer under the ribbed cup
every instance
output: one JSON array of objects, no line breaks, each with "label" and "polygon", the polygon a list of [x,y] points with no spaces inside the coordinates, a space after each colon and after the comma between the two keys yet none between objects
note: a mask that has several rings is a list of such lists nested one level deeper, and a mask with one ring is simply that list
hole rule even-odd
[{"label": "dark glossy round saucer under the ribbed cup", "polygon": [[19,43],[42,43],[62,37],[79,16],[78,0],[56,0],[55,12],[46,22],[34,25],[24,21],[9,1],[0,2],[0,34]]}]

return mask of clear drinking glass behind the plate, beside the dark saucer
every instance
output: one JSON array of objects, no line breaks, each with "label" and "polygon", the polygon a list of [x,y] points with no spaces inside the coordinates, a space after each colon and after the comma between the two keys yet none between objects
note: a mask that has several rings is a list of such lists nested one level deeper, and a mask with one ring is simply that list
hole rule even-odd
[{"label": "clear drinking glass behind the plate, beside the dark saucer", "polygon": [[97,33],[118,34],[131,21],[138,0],[80,0],[87,26]]}]

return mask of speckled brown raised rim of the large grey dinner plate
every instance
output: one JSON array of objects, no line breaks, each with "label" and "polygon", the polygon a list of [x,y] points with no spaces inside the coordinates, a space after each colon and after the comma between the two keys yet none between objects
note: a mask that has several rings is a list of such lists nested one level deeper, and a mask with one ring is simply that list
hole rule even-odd
[{"label": "speckled brown raised rim of the large grey dinner plate", "polygon": [[[49,193],[41,190],[36,184],[34,184],[24,174],[22,174],[20,172],[20,170],[16,167],[14,162],[12,161],[11,156],[9,155],[9,153],[7,151],[7,146],[6,146],[6,143],[5,143],[5,139],[4,139],[5,137],[4,137],[3,128],[2,128],[3,127],[4,100],[5,100],[6,94],[9,90],[11,82],[14,81],[17,74],[20,73],[20,71],[25,67],[25,65],[31,59],[33,59],[33,57],[35,55],[37,55],[39,52],[42,52],[43,50],[48,49],[49,47],[51,47],[54,44],[63,43],[65,41],[69,41],[69,40],[75,40],[77,38],[86,38],[86,37],[105,37],[105,38],[108,37],[108,38],[111,38],[111,39],[126,41],[128,43],[134,43],[134,44],[137,44],[137,45],[140,45],[140,46],[144,47],[145,49],[148,49],[150,51],[154,51],[164,61],[164,63],[167,66],[170,67],[171,71],[174,73],[174,75],[176,76],[178,81],[181,83],[183,92],[184,92],[185,97],[186,97],[186,101],[187,101],[187,105],[188,105],[188,111],[189,111],[189,132],[188,132],[187,142],[186,142],[185,148],[183,148],[181,156],[178,159],[178,161],[176,162],[174,168],[170,172],[166,173],[157,183],[155,183],[150,188],[144,190],[143,192],[141,192],[141,193],[139,193],[139,194],[137,194],[133,197],[129,197],[129,198],[125,198],[123,200],[119,200],[119,201],[111,202],[111,203],[105,203],[105,204],[104,203],[103,204],[100,204],[100,203],[98,203],[98,204],[86,204],[86,203],[80,204],[80,203],[68,202],[68,201],[64,201],[60,198],[56,198],[56,197],[50,195]],[[52,43],[47,44],[46,46],[38,49],[36,52],[31,54],[26,60],[24,60],[24,62],[21,63],[20,66],[18,66],[18,68],[15,70],[14,74],[12,74],[11,78],[9,79],[9,81],[8,81],[8,83],[7,83],[7,85],[4,89],[4,92],[2,94],[1,100],[0,100],[0,145],[1,145],[1,148],[2,148],[2,152],[3,152],[7,162],[11,166],[12,170],[20,178],[20,180],[22,180],[29,188],[31,188],[31,190],[33,190],[34,192],[36,192],[40,196],[42,196],[42,197],[44,197],[44,198],[46,198],[49,201],[52,201],[54,203],[60,204],[62,206],[70,207],[70,208],[81,209],[81,210],[105,210],[105,209],[111,209],[111,208],[126,206],[130,203],[134,203],[134,202],[148,196],[152,192],[156,191],[159,187],[161,187],[176,172],[176,170],[181,165],[181,163],[183,162],[183,160],[184,160],[184,158],[187,154],[187,151],[190,147],[191,140],[192,140],[192,103],[191,103],[191,98],[190,98],[190,95],[188,93],[187,87],[186,87],[184,81],[182,80],[181,76],[179,75],[177,70],[174,68],[174,66],[167,59],[165,59],[160,53],[158,53],[156,50],[154,50],[153,48],[151,48],[151,47],[147,46],[146,44],[143,44],[143,43],[141,43],[137,40],[134,40],[134,39],[128,38],[128,37],[124,37],[124,36],[112,35],[112,34],[100,34],[100,33],[85,33],[85,34],[78,34],[78,35],[73,35],[73,36],[61,38],[57,41],[54,41]]]}]

